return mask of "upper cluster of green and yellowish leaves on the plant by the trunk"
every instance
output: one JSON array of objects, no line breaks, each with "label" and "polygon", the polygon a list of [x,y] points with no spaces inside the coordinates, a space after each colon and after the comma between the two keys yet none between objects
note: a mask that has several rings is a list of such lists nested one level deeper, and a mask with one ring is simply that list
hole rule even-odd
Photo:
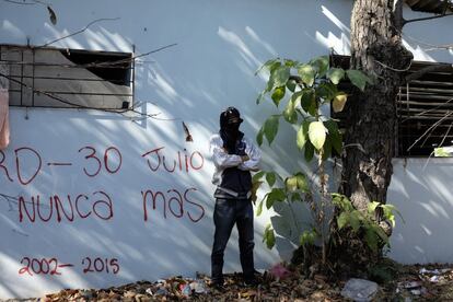
[{"label": "upper cluster of green and yellowish leaves on the plant by the trunk", "polygon": [[339,91],[337,84],[341,80],[349,81],[360,90],[371,83],[369,77],[359,70],[344,70],[329,68],[327,56],[315,58],[307,63],[288,59],[268,60],[258,71],[269,72],[269,80],[265,90],[259,94],[259,104],[266,94],[269,94],[274,104],[279,108],[286,95],[289,95],[284,108],[269,116],[259,129],[256,140],[259,146],[264,138],[269,144],[275,140],[280,117],[292,125],[298,125],[295,142],[300,150],[304,150],[306,161],[311,161],[315,153],[326,160],[334,149],[341,152],[341,132],[337,121],[323,116],[320,107],[332,104],[335,112],[344,109],[348,95]]}]

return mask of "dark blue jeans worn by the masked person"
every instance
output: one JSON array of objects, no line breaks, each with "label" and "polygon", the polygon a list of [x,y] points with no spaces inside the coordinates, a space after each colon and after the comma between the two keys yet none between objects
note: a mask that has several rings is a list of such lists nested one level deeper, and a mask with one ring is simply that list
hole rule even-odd
[{"label": "dark blue jeans worn by the masked person", "polygon": [[217,198],[213,221],[216,233],[211,254],[212,282],[223,282],[223,254],[234,224],[236,224],[239,231],[239,247],[243,276],[245,279],[252,279],[255,272],[253,260],[255,243],[253,239],[252,201],[249,199]]}]

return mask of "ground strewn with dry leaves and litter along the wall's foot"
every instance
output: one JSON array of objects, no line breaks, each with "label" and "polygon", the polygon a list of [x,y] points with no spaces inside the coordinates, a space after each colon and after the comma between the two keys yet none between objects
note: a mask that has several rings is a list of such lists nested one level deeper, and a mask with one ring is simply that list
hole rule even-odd
[{"label": "ground strewn with dry leaves and litter along the wall's foot", "polygon": [[[376,272],[379,290],[372,301],[453,301],[453,266],[394,266]],[[382,280],[392,276],[391,280]],[[108,289],[61,290],[42,298],[11,301],[351,301],[341,295],[347,280],[315,274],[305,278],[298,269],[281,274],[272,270],[258,277],[258,284],[246,287],[239,274],[225,276],[225,287],[209,287],[210,279],[173,277],[155,282],[140,281]]]}]

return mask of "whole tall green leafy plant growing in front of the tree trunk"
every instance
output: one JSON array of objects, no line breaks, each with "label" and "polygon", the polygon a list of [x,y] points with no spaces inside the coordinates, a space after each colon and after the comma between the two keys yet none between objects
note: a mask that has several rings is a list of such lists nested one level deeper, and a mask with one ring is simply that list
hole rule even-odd
[{"label": "whole tall green leafy plant growing in front of the tree trunk", "polygon": [[[315,58],[306,63],[289,59],[272,59],[267,61],[257,72],[267,71],[269,78],[265,90],[259,94],[257,104],[270,95],[278,109],[270,115],[260,127],[256,140],[259,146],[264,139],[269,146],[275,140],[281,118],[297,128],[294,143],[307,162],[317,160],[317,181],[309,182],[310,177],[303,171],[295,171],[292,175],[282,177],[276,172],[259,172],[254,175],[254,201],[257,201],[256,191],[266,179],[269,190],[257,205],[257,214],[263,207],[272,208],[276,202],[301,201],[306,202],[311,210],[314,225],[304,230],[300,235],[302,247],[313,246],[321,242],[322,263],[325,264],[327,243],[329,241],[327,208],[334,206],[339,209],[336,218],[339,229],[350,226],[352,231],[364,230],[367,244],[376,249],[379,242],[388,243],[388,237],[380,229],[372,216],[379,209],[384,217],[394,223],[395,208],[391,205],[370,204],[369,212],[356,210],[346,197],[327,193],[327,174],[325,162],[333,153],[340,154],[342,135],[337,120],[328,114],[328,106],[338,113],[345,108],[348,94],[338,89],[341,80],[349,80],[355,86],[364,90],[373,81],[359,70],[344,70],[332,68],[327,56]],[[323,106],[326,108],[323,111]],[[264,242],[271,248],[275,245],[275,230],[271,224],[266,228]]]}]

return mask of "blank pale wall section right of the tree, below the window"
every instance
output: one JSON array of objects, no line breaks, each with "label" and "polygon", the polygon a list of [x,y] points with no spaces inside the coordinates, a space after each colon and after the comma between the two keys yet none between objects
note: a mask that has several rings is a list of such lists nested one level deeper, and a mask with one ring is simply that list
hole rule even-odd
[{"label": "blank pale wall section right of the tree, below the window", "polygon": [[402,212],[390,256],[404,264],[452,263],[451,159],[395,159],[387,201]]}]

